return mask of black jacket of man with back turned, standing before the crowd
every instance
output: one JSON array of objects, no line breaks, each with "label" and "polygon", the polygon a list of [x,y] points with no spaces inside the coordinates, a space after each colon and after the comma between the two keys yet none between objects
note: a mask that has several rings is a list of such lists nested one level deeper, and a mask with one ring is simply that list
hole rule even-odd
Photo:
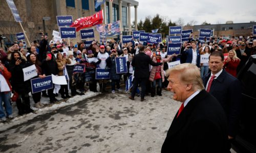
[{"label": "black jacket of man with back turned, standing before the crowd", "polygon": [[150,77],[150,65],[158,66],[159,63],[155,63],[145,53],[140,52],[135,55],[132,60],[132,66],[134,67],[134,77],[136,78],[148,78]]}]

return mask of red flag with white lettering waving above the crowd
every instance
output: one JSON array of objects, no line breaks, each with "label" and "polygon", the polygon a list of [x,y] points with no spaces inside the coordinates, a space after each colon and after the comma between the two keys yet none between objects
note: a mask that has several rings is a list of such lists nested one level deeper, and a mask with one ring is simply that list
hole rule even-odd
[{"label": "red flag with white lettering waving above the crowd", "polygon": [[103,11],[93,14],[92,16],[81,17],[76,19],[70,27],[76,27],[76,31],[84,28],[93,27],[94,25],[101,24],[103,22]]}]

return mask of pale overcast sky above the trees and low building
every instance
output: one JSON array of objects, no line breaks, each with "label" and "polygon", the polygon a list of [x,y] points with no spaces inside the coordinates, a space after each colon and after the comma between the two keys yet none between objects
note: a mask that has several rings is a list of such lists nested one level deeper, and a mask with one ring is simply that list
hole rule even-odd
[{"label": "pale overcast sky above the trees and low building", "polygon": [[[138,22],[146,16],[152,18],[158,13],[166,21],[176,22],[178,18],[184,19],[184,24],[195,20],[195,25],[206,21],[211,24],[244,23],[256,21],[256,0],[244,1],[187,1],[187,0],[136,0],[138,6]],[[131,8],[131,22],[135,19],[134,7]]]}]

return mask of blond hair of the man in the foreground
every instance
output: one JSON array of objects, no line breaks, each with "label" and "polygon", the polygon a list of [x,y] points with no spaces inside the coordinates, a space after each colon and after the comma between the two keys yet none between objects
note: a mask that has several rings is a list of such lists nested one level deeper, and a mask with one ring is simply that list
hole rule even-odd
[{"label": "blond hair of the man in the foreground", "polygon": [[179,73],[179,80],[183,84],[193,84],[193,90],[203,90],[204,85],[201,79],[199,68],[190,63],[183,63],[166,70],[166,77],[173,73]]}]

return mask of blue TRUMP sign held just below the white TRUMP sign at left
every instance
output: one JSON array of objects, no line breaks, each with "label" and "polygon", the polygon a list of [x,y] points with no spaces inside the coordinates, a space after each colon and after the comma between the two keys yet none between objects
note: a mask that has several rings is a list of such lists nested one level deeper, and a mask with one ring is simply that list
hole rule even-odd
[{"label": "blue TRUMP sign held just below the white TRUMP sign at left", "polygon": [[46,78],[31,79],[32,93],[44,91],[53,88],[52,75],[46,76]]}]

